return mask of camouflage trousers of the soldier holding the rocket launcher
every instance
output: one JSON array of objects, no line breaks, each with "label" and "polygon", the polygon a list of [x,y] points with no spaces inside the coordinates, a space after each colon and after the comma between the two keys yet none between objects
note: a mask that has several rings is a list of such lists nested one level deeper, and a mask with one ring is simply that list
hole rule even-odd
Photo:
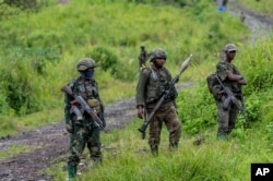
[{"label": "camouflage trousers of the soldier holding the rocket launcher", "polygon": [[[151,112],[149,111],[149,114]],[[161,143],[161,132],[163,122],[169,132],[169,146],[170,148],[177,147],[181,136],[181,122],[178,119],[177,110],[174,105],[167,108],[159,108],[153,119],[150,122],[150,137],[149,144],[152,153],[158,152],[158,145]]]}]

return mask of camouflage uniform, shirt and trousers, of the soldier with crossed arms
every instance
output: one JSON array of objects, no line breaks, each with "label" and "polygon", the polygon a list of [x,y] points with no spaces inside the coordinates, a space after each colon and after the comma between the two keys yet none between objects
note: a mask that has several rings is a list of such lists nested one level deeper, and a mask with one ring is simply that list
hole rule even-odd
[{"label": "camouflage uniform, shirt and trousers, of the soldier with crossed arms", "polygon": [[[237,68],[229,62],[219,62],[216,65],[216,70],[224,86],[228,87],[234,93],[235,97],[238,98],[239,104],[241,104],[241,85],[227,79],[227,74],[229,73],[241,75]],[[217,100],[218,137],[226,136],[232,132],[235,128],[235,122],[239,112],[239,109],[234,104],[230,104],[227,110],[223,109],[223,100],[225,98],[226,95],[223,94]]]}]

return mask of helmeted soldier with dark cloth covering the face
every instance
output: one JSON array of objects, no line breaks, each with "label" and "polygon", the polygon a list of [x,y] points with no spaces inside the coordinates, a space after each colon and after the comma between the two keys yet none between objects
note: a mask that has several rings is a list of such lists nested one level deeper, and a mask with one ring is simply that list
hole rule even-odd
[{"label": "helmeted soldier with dark cloth covering the face", "polygon": [[[96,63],[91,58],[81,59],[76,69],[80,72],[80,76],[69,83],[69,87],[74,95],[82,96],[83,99],[88,104],[91,108],[106,125],[104,119],[104,105],[98,94],[98,86],[96,81],[93,79]],[[80,157],[84,150],[85,145],[90,150],[91,159],[97,164],[102,164],[103,156],[100,152],[99,141],[99,128],[94,123],[91,116],[86,112],[83,113],[81,120],[76,119],[76,116],[71,110],[71,101],[73,97],[66,94],[64,96],[64,118],[66,128],[70,134],[70,156],[68,158],[68,173],[69,180],[73,181],[76,177],[76,166],[80,162]],[[73,102],[73,101],[72,101]]]}]

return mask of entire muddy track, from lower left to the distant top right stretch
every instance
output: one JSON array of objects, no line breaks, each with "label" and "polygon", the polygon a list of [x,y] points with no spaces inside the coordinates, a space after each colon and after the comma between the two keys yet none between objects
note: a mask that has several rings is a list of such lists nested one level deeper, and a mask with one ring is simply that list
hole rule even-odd
[{"label": "entire muddy track, from lower left to the distant top right stretch", "polygon": [[[218,4],[219,2],[216,2]],[[240,17],[245,13],[245,24],[252,31],[250,43],[273,25],[273,21],[241,7],[237,1],[230,0],[226,12]],[[262,34],[261,34],[262,32]],[[179,88],[191,86],[190,83],[179,85]],[[107,134],[114,128],[122,129],[136,117],[134,98],[128,98],[106,106]],[[36,131],[26,131],[16,136],[0,137],[0,152],[7,150],[12,145],[28,145],[31,153],[21,154],[8,159],[0,159],[0,181],[51,181],[51,176],[45,174],[45,168],[58,160],[69,152],[69,135],[64,130],[64,122],[46,125]]]}]

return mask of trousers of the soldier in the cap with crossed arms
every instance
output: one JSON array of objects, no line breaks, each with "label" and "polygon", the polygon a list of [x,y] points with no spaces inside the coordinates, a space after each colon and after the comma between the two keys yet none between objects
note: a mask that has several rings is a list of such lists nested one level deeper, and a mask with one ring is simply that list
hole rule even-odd
[{"label": "trousers of the soldier in the cap with crossed arms", "polygon": [[217,101],[218,137],[226,136],[232,132],[232,130],[235,128],[236,119],[239,113],[239,109],[236,107],[236,105],[230,104],[227,110],[223,109],[223,101]]}]

